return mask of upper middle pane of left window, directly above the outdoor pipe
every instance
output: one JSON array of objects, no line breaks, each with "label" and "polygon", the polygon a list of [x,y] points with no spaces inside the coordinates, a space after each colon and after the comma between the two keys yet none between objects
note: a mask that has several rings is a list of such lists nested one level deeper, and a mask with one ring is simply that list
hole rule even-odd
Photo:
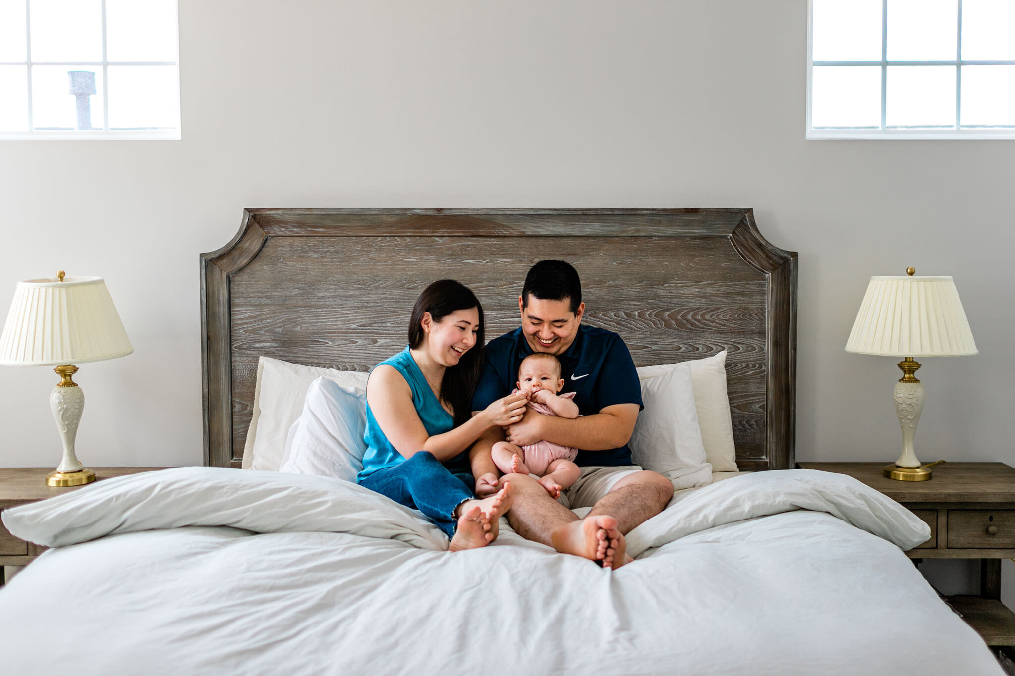
[{"label": "upper middle pane of left window, directly above the outdoor pipe", "polygon": [[101,61],[101,0],[31,0],[32,61]]}]

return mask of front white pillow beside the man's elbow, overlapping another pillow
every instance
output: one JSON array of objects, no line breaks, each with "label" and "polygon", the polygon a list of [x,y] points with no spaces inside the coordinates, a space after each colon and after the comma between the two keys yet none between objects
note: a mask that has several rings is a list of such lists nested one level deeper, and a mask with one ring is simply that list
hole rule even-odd
[{"label": "front white pillow beside the man's elbow, overlapping another pillow", "polygon": [[691,370],[686,364],[641,381],[645,410],[638,414],[631,435],[634,464],[675,479],[697,474],[712,481],[712,467],[705,459]]}]

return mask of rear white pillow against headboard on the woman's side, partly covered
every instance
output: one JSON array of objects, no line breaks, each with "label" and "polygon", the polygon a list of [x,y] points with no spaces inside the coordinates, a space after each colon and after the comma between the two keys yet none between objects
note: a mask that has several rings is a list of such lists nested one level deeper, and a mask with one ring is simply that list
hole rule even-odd
[{"label": "rear white pillow against headboard on the woman's side, partly covered", "polygon": [[244,469],[278,470],[285,453],[286,436],[302,411],[307,390],[322,376],[344,387],[365,392],[369,374],[290,364],[270,357],[260,359],[254,390],[254,414],[244,446]]}]

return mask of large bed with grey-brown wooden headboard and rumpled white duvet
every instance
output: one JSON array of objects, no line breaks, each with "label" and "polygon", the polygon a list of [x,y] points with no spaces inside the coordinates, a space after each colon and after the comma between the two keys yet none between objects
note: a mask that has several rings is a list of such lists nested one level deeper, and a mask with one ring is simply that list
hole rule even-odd
[{"label": "large bed with grey-brown wooden headboard and rumpled white duvet", "polygon": [[[632,564],[557,554],[503,520],[451,554],[348,481],[239,469],[262,358],[367,371],[448,277],[495,336],[543,257],[576,266],[585,321],[637,366],[726,353],[739,471],[678,491],[629,533]],[[201,284],[207,466],[5,511],[54,547],[0,591],[10,673],[1001,673],[903,553],[926,524],[793,469],[797,255],[749,209],[251,209]]]}]

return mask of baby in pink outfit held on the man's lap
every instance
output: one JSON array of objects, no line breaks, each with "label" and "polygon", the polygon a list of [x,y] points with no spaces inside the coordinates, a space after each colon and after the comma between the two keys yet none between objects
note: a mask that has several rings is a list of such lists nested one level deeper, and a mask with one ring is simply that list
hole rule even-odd
[{"label": "baby in pink outfit held on the man's lap", "polygon": [[[560,377],[560,362],[553,355],[537,352],[529,355],[518,367],[518,389],[529,396],[529,405],[544,416],[578,418],[574,392],[557,394],[564,386]],[[518,447],[498,441],[490,451],[493,462],[504,474],[517,472],[537,474],[540,485],[554,499],[578,480],[582,470],[574,464],[578,449],[549,441],[539,441]]]}]

